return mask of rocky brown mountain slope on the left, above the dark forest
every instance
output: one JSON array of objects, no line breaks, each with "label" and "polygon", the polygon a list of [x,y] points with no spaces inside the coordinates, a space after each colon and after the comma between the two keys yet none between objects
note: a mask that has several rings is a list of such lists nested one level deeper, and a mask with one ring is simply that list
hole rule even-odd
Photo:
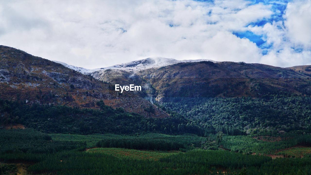
[{"label": "rocky brown mountain slope on the left, above the dark forest", "polygon": [[[148,117],[168,115],[137,93],[122,94],[114,85],[103,83],[62,64],[27,54],[7,46],[0,46],[0,98],[33,104],[61,104],[74,107],[97,108],[96,102],[122,107]],[[153,106],[154,112],[145,109]]]}]

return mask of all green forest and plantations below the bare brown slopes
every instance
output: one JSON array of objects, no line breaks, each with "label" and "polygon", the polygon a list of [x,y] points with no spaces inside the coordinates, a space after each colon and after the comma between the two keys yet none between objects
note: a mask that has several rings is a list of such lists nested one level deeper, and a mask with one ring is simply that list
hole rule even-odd
[{"label": "all green forest and plantations below the bare brown slopes", "polygon": [[102,101],[81,109],[0,100],[0,122],[26,126],[0,128],[0,174],[309,175],[310,104],[188,99],[159,105],[171,117],[145,118]]}]

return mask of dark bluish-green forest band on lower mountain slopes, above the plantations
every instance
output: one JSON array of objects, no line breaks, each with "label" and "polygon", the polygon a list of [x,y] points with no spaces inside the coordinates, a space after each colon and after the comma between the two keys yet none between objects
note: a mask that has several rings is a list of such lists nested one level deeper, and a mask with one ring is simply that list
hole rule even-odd
[{"label": "dark bluish-green forest band on lower mountain slopes, above the plantations", "polygon": [[311,130],[311,97],[186,98],[159,105],[168,118],[145,118],[97,102],[100,110],[0,100],[2,124],[21,123],[46,133],[208,135]]}]

